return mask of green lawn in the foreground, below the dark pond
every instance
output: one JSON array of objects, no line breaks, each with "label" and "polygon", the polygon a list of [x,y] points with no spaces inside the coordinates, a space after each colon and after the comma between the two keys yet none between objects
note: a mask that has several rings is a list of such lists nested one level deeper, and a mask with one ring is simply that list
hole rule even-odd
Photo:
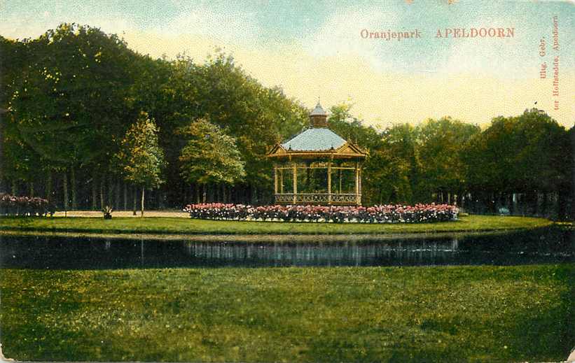
[{"label": "green lawn in the foreground, below the dark pond", "polygon": [[18,360],[564,360],[572,265],[0,270]]}]

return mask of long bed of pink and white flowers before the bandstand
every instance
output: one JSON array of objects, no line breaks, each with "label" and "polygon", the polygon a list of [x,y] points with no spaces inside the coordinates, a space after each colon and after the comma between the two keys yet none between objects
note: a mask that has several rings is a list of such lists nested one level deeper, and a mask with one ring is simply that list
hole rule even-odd
[{"label": "long bed of pink and white flowers before the bandstand", "polygon": [[448,204],[415,206],[245,206],[188,204],[191,218],[203,220],[276,220],[284,222],[424,223],[457,220],[459,209]]}]

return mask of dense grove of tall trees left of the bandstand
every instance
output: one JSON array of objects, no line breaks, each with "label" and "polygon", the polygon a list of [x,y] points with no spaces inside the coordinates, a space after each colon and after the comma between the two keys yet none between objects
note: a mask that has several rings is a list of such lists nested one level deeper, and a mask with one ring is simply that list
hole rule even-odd
[{"label": "dense grove of tall trees left of the bandstand", "polygon": [[[135,208],[140,190],[158,186],[146,197],[155,208],[198,198],[257,203],[272,183],[267,146],[307,122],[299,101],[217,51],[201,63],[152,59],[78,24],[0,46],[2,189],[60,209]],[[126,138],[143,114],[162,151],[155,164],[126,150],[138,147]],[[158,180],[130,174],[130,158],[140,171],[157,168]]]}]

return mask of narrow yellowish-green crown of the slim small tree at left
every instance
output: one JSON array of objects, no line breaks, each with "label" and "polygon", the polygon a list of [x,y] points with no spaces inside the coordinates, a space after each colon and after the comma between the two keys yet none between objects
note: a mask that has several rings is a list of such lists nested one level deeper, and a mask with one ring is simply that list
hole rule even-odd
[{"label": "narrow yellowish-green crown of the slim small tree at left", "polygon": [[164,152],[158,145],[158,128],[148,113],[141,112],[120,142],[116,154],[125,180],[146,188],[157,188],[163,182]]}]

